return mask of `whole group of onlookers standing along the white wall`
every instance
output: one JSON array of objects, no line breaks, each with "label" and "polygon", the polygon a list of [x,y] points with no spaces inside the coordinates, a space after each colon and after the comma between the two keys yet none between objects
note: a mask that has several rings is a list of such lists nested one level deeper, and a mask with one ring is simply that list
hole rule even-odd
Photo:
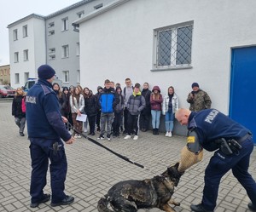
[{"label": "whole group of onlookers standing along the white wall", "polygon": [[[142,88],[143,87],[143,88]],[[178,98],[175,90],[170,86],[166,95],[161,94],[160,87],[155,85],[152,90],[148,83],[135,83],[133,86],[131,78],[125,79],[125,88],[122,89],[119,83],[113,83],[108,79],[104,87],[98,86],[97,93],[78,85],[61,89],[58,83],[52,86],[61,109],[61,115],[67,117],[76,129],[74,138],[81,138],[81,133],[87,132],[89,123],[89,135],[96,135],[100,132],[99,140],[120,135],[126,139],[138,139],[139,129],[143,132],[150,128],[150,119],[153,135],[159,135],[160,115],[165,116],[166,136],[172,137],[174,114],[178,109]],[[211,99],[207,92],[199,89],[198,83],[192,84],[192,92],[189,93],[187,101],[190,103],[191,111],[201,111],[211,107]],[[21,100],[24,97],[22,89],[16,90],[13,100],[12,114],[15,116],[15,123],[19,126],[20,135],[24,136],[26,124],[26,112],[21,111]],[[86,121],[77,120],[78,116],[86,114]],[[84,125],[84,126],[83,126]]]}]

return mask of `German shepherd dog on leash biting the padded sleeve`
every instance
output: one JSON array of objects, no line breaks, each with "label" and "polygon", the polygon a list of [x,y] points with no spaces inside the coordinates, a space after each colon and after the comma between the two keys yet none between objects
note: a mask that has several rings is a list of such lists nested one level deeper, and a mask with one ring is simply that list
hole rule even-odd
[{"label": "German shepherd dog on leash biting the padded sleeve", "polygon": [[[108,193],[99,200],[99,212],[124,211],[135,212],[137,209],[159,208],[174,212],[169,205],[179,206],[180,203],[172,199],[174,186],[177,186],[183,172],[178,172],[179,163],[167,168],[161,174],[146,180],[125,180],[112,186]],[[110,203],[113,210],[108,209]]]}]

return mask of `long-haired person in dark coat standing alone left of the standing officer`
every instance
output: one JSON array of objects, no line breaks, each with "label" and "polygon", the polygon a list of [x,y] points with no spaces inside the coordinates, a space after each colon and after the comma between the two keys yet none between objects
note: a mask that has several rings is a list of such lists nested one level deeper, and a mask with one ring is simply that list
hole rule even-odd
[{"label": "long-haired person in dark coat standing alone left of the standing officer", "polygon": [[[24,102],[22,103],[22,101]],[[15,123],[19,127],[20,136],[24,136],[26,124],[26,112],[22,112],[22,104],[25,104],[25,93],[21,88],[18,88],[16,89],[15,98],[12,104],[12,115],[15,117]]]}]

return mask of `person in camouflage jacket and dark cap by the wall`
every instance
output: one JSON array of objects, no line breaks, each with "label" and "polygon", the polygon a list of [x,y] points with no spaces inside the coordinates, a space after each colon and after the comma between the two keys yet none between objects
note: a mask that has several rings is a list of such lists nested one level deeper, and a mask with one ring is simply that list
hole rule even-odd
[{"label": "person in camouflage jacket and dark cap by the wall", "polygon": [[199,112],[204,109],[210,109],[212,100],[206,91],[199,89],[198,83],[192,83],[192,91],[188,95],[189,110]]}]

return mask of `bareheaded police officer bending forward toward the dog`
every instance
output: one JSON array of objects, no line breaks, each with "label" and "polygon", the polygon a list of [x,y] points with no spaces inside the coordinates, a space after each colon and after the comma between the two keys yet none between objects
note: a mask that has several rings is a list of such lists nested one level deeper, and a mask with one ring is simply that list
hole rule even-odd
[{"label": "bareheaded police officer bending forward toward the dog", "polygon": [[213,211],[219,182],[232,169],[233,175],[252,201],[248,203],[248,208],[256,211],[256,183],[247,171],[253,152],[251,132],[216,109],[190,112],[182,108],[175,117],[182,125],[188,125],[187,146],[191,152],[200,152],[202,148],[215,151],[205,171],[202,201],[197,205],[192,204],[190,208],[196,212]]}]

